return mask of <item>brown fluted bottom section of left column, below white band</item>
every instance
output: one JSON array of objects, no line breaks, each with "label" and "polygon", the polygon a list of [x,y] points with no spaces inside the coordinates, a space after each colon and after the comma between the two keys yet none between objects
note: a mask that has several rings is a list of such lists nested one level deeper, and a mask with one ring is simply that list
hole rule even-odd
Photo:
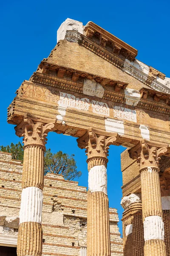
[{"label": "brown fluted bottom section of left column, below white band", "polygon": [[17,256],[42,255],[42,226],[37,222],[20,224],[17,241]]}]

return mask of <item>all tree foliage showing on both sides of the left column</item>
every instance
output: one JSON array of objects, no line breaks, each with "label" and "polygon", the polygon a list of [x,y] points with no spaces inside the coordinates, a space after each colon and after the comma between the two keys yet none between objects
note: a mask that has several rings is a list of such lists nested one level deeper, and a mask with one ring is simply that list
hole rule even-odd
[{"label": "all tree foliage showing on both sides of the left column", "polygon": [[[23,162],[24,151],[20,142],[17,144],[11,143],[11,145],[8,146],[0,146],[0,151],[11,153],[12,159]],[[70,156],[62,153],[62,151],[53,154],[51,153],[51,149],[45,151],[44,171],[45,175],[48,172],[60,174],[67,180],[73,180],[82,175],[82,172],[77,171],[74,154]]]}]

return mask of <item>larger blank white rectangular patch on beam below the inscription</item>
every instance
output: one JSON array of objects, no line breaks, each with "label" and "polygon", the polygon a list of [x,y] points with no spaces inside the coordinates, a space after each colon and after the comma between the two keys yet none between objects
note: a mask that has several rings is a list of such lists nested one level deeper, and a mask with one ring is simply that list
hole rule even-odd
[{"label": "larger blank white rectangular patch on beam below the inscription", "polygon": [[125,134],[124,122],[112,118],[106,118],[105,130],[108,132],[116,132],[120,135]]}]

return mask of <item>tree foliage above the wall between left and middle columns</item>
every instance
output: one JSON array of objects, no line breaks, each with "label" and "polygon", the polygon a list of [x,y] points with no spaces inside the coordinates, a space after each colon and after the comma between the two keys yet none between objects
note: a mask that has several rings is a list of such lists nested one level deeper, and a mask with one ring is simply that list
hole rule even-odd
[{"label": "tree foliage above the wall between left and middle columns", "polygon": [[51,172],[54,174],[63,175],[67,180],[73,180],[75,177],[80,177],[82,172],[77,171],[74,154],[71,156],[62,151],[51,153],[50,149],[45,152],[45,174]]}]

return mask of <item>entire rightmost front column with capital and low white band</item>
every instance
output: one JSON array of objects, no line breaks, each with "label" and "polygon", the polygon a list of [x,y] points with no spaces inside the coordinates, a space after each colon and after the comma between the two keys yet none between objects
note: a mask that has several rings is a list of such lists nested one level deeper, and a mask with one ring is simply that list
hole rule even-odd
[{"label": "entire rightmost front column with capital and low white band", "polygon": [[144,223],[144,256],[166,256],[159,184],[159,160],[168,145],[142,140],[129,150],[137,159],[141,173],[142,216]]}]

